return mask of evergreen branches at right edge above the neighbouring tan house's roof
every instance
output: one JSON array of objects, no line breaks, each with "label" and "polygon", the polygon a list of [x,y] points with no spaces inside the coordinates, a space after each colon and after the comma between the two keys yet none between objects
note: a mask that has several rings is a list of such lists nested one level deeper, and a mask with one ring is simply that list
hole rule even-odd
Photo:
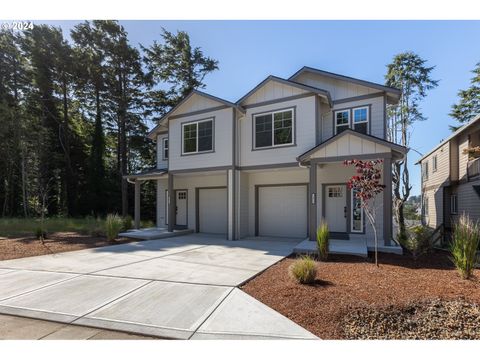
[{"label": "evergreen branches at right edge above the neighbouring tan house's roof", "polygon": [[452,131],[480,114],[480,62],[475,65],[472,73],[474,76],[470,80],[470,87],[467,90],[460,90],[458,103],[452,105],[450,116],[459,123],[459,126],[450,126]]}]

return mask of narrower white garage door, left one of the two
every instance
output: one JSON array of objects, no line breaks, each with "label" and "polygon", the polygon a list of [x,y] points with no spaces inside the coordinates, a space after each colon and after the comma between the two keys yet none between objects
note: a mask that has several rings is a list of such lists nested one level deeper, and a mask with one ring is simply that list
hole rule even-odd
[{"label": "narrower white garage door, left one of the two", "polygon": [[209,234],[227,233],[227,188],[199,189],[198,231]]}]

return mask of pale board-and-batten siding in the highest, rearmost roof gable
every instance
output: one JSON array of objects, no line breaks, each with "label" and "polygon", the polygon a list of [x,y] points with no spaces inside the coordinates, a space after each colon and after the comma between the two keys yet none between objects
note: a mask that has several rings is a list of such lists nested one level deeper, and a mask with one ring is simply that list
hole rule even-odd
[{"label": "pale board-and-batten siding in the highest, rearmost roof gable", "polygon": [[330,92],[333,100],[361,95],[370,95],[379,92],[378,89],[369,88],[367,86],[358,85],[345,80],[332,79],[330,77],[310,72],[306,72],[297,76],[294,81],[327,90]]}]

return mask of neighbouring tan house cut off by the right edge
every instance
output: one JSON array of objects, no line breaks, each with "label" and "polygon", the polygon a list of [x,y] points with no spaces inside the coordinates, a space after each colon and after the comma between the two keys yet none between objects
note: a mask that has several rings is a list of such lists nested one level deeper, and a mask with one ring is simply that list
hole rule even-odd
[{"label": "neighbouring tan house cut off by the right edge", "polygon": [[424,224],[432,228],[444,226],[448,232],[460,214],[480,220],[480,115],[440,142],[417,164],[422,167]]}]

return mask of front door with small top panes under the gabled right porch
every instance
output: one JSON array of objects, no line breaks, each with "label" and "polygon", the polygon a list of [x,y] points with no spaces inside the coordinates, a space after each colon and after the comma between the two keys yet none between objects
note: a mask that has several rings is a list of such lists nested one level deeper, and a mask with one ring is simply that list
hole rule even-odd
[{"label": "front door with small top panes under the gabled right porch", "polygon": [[325,187],[325,220],[331,232],[347,232],[347,187]]}]

